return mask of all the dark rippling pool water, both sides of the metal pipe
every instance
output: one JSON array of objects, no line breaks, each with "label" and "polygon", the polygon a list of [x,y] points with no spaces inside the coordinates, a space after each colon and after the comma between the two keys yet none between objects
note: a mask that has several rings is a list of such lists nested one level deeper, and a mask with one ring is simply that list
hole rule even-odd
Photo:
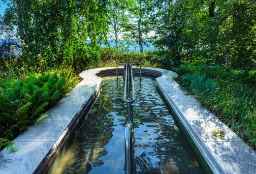
[{"label": "all the dark rippling pool water, both sides of the metal pipe", "polygon": [[[158,93],[155,79],[134,80],[134,174],[203,173]],[[118,90],[115,78],[103,78],[96,104],[55,173],[124,174],[126,108],[122,77]]]}]

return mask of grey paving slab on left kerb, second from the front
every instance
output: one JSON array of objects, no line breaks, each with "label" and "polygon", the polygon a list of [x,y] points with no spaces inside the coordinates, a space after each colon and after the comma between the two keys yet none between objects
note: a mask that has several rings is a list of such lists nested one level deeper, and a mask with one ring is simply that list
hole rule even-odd
[{"label": "grey paving slab on left kerb, second from the front", "polygon": [[40,123],[30,126],[15,141],[57,141],[71,122],[70,118],[46,118]]}]

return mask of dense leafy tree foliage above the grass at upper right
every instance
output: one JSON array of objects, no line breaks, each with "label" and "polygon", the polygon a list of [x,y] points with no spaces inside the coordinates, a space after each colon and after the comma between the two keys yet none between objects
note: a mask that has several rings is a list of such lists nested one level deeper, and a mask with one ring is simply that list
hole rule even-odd
[{"label": "dense leafy tree foliage above the grass at upper right", "polygon": [[254,0],[156,0],[151,11],[155,44],[169,66],[196,60],[227,71],[255,69]]}]

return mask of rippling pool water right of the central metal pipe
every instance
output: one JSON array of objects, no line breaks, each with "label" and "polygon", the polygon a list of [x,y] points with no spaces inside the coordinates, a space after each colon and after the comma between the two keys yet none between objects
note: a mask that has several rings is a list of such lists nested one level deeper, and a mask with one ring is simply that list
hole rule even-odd
[{"label": "rippling pool water right of the central metal pipe", "polygon": [[[143,79],[141,86],[135,87],[135,91],[139,91],[138,95],[143,98],[137,97],[133,103],[134,128],[138,129],[137,132],[144,131],[145,135],[147,134],[146,137],[136,137],[136,133],[134,134],[137,139],[135,153],[138,150],[134,159],[137,174],[146,174],[149,171],[156,174],[169,171],[171,174],[178,174],[184,170],[200,173],[194,155],[188,151],[191,150],[190,147],[186,147],[188,143],[182,138],[168,108],[157,92],[156,81]],[[146,126],[146,130],[142,130],[140,125]],[[185,161],[188,164],[185,164]]]}]

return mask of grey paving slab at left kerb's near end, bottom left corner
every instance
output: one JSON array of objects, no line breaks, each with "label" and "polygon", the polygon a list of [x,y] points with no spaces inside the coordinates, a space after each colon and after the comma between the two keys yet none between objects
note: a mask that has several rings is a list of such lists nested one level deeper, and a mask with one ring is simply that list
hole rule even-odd
[{"label": "grey paving slab at left kerb's near end, bottom left corner", "polygon": [[17,152],[3,149],[0,152],[0,174],[32,174],[55,142],[15,142],[22,147]]}]

